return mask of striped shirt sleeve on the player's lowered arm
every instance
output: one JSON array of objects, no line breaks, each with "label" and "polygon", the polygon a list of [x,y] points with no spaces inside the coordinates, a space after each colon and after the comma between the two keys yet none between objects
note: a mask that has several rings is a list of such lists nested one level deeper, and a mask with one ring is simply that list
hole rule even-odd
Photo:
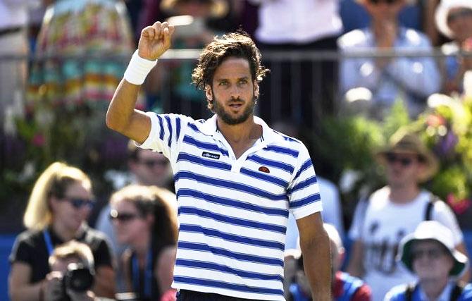
[{"label": "striped shirt sleeve on the player's lowered arm", "polygon": [[294,177],[287,190],[289,207],[295,219],[323,210],[315,168],[304,145],[299,152]]}]

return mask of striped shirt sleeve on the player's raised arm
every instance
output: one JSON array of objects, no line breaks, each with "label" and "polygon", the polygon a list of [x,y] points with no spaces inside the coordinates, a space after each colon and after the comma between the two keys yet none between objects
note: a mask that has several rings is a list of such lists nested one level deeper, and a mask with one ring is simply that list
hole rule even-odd
[{"label": "striped shirt sleeve on the player's raised arm", "polygon": [[147,112],[147,116],[151,118],[151,130],[142,145],[137,146],[161,152],[171,162],[175,161],[173,154],[178,154],[179,142],[182,141],[191,118],[178,114],[154,112]]}]

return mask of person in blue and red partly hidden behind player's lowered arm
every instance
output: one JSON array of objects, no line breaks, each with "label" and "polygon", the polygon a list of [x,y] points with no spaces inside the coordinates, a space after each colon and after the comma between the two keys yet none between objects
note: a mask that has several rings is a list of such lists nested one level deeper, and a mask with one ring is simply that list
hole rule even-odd
[{"label": "person in blue and red partly hidden behind player's lowered arm", "polygon": [[[324,225],[325,231],[330,237],[332,272],[332,296],[333,300],[370,301],[371,289],[361,279],[350,276],[340,271],[344,259],[344,247],[336,228],[329,223]],[[297,261],[297,272],[294,283],[290,285],[290,301],[311,301],[310,285],[304,273],[303,256]]]}]

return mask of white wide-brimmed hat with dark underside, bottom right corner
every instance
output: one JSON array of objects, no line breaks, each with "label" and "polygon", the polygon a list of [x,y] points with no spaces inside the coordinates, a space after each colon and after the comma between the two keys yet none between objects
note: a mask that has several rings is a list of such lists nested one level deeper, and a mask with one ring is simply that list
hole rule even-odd
[{"label": "white wide-brimmed hat with dark underside, bottom right corner", "polygon": [[452,232],[439,223],[438,221],[422,221],[414,233],[406,235],[399,245],[399,254],[397,260],[402,262],[406,269],[413,271],[412,258],[411,258],[411,247],[414,242],[422,240],[435,240],[444,245],[454,259],[454,266],[449,271],[450,276],[461,276],[468,267],[468,259],[466,255],[462,254],[455,249],[454,236]]}]

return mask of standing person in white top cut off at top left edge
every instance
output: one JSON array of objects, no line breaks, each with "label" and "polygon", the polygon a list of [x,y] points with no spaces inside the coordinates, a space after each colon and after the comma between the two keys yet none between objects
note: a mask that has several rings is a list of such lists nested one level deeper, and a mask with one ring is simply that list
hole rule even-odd
[{"label": "standing person in white top cut off at top left edge", "polygon": [[[0,0],[0,57],[27,56],[28,9],[41,0]],[[5,114],[13,114],[15,106],[23,106],[27,60],[25,58],[0,59],[0,132],[4,128]],[[15,104],[15,102],[17,102]]]}]

